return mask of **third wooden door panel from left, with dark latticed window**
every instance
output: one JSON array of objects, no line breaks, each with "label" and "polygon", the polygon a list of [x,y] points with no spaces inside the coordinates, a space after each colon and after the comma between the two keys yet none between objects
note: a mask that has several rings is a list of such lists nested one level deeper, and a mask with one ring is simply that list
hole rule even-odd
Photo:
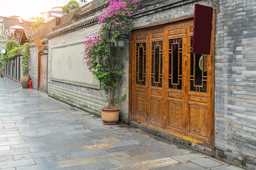
[{"label": "third wooden door panel from left, with dark latticed window", "polygon": [[166,129],[181,135],[185,135],[184,130],[184,34],[185,24],[177,24],[166,27],[168,33],[167,63],[167,101],[168,110]]}]

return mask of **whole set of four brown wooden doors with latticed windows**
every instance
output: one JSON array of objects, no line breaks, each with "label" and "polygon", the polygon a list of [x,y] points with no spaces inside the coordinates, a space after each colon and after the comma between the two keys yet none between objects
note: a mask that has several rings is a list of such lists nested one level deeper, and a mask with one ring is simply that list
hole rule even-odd
[{"label": "whole set of four brown wooden doors with latticed windows", "polygon": [[212,145],[213,57],[192,53],[193,21],[132,33],[132,121]]}]

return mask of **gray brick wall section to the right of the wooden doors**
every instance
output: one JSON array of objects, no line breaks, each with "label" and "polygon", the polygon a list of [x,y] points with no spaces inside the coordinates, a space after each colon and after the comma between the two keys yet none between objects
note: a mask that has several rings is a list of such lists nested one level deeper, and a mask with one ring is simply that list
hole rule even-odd
[{"label": "gray brick wall section to the right of the wooden doors", "polygon": [[220,0],[215,52],[216,157],[256,169],[255,0]]}]

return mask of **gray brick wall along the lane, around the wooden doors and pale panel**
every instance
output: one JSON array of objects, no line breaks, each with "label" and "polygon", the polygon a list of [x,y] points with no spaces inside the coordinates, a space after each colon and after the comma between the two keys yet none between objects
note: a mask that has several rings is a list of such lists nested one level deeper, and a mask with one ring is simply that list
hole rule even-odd
[{"label": "gray brick wall along the lane, around the wooden doors and pale panel", "polygon": [[[61,43],[83,40],[87,35],[94,35],[99,29],[97,21],[73,28],[71,31],[60,29],[75,24],[84,23],[87,16],[98,15],[105,0],[94,0],[62,17],[54,29],[42,34],[48,34],[45,43],[56,46]],[[193,15],[194,4],[213,7],[206,0],[142,0],[141,7],[134,15],[134,27],[157,24],[183,16]],[[213,7],[214,9],[216,7]],[[95,9],[95,10],[94,10]],[[98,9],[98,10],[96,10]],[[255,0],[220,0],[220,11],[216,11],[215,28],[215,157],[234,164],[246,170],[256,169],[256,1]],[[90,13],[91,11],[91,13]],[[94,11],[94,12],[92,12]],[[80,18],[74,18],[78,13]],[[89,23],[89,22],[88,22]],[[76,27],[76,26],[74,26]],[[40,29],[42,31],[43,28]],[[65,32],[66,31],[66,32]],[[47,36],[46,36],[47,37]],[[124,53],[129,54],[129,42],[126,40]],[[97,89],[65,84],[52,81],[50,78],[51,53],[48,54],[48,94],[63,102],[100,115],[100,107],[106,105],[106,94]],[[121,95],[128,95],[129,60],[120,57],[124,62],[123,84]],[[37,51],[31,44],[29,73],[34,83],[37,79]],[[34,84],[34,87],[36,85]],[[129,97],[129,96],[128,96]],[[120,119],[128,122],[128,98],[120,101]],[[163,132],[131,122],[133,126],[152,132],[156,135],[180,142],[200,152],[211,154],[209,148],[204,148],[190,142],[166,135]]]}]

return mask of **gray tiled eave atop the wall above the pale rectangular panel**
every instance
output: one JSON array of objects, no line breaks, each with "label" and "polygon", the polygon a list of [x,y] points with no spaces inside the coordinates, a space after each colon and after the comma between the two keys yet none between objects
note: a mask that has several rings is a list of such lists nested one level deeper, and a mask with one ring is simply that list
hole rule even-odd
[{"label": "gray tiled eave atop the wall above the pale rectangular panel", "polygon": [[83,27],[90,26],[92,24],[96,24],[98,22],[98,18],[99,18],[99,15],[94,15],[91,18],[85,18],[83,20],[80,20],[79,22],[70,24],[70,25],[65,26],[65,27],[63,27],[61,29],[58,29],[58,30],[53,31],[51,33],[48,33],[46,37],[48,39],[50,39],[50,38],[56,37],[58,35],[62,35],[64,33],[68,33],[70,31],[74,31],[76,29],[81,29]]}]

